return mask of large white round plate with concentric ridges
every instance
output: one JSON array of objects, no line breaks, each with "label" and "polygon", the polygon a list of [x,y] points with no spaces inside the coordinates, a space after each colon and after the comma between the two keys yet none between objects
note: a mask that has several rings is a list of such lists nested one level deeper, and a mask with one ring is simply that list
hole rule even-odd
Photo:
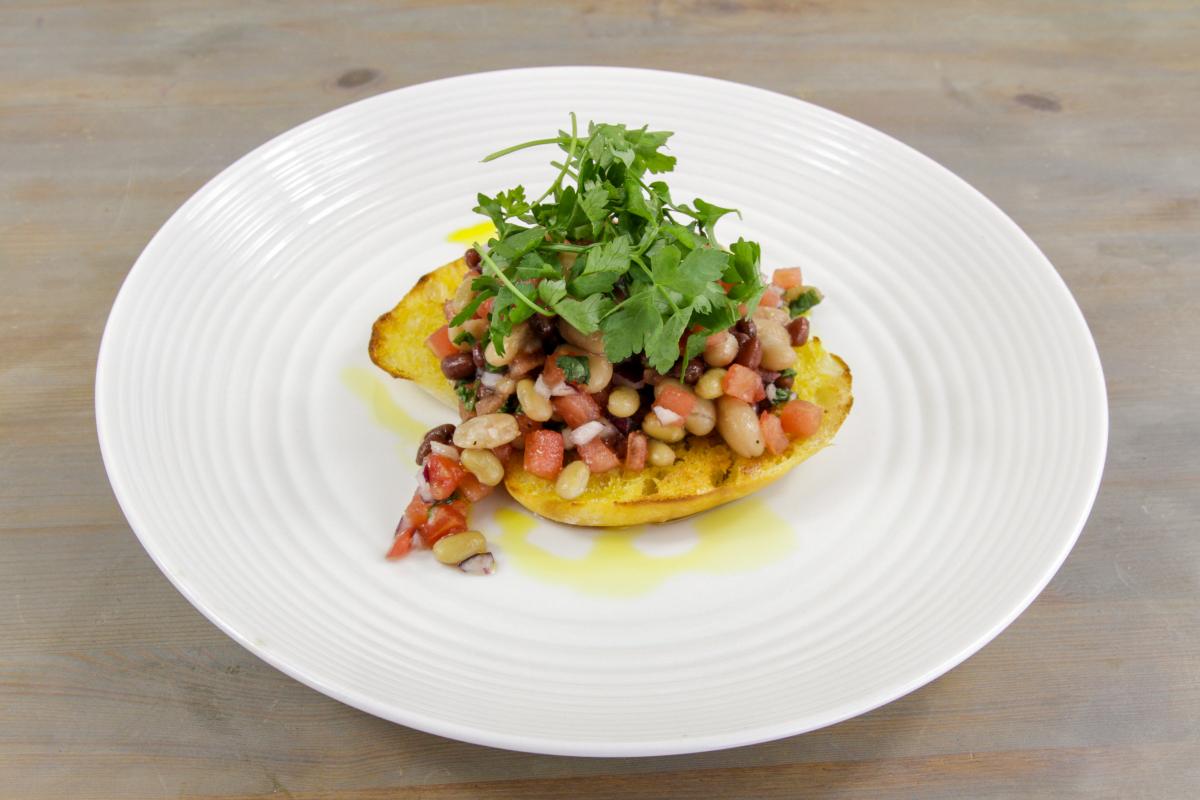
[{"label": "large white round plate with concentric ridges", "polygon": [[[480,157],[570,110],[676,131],[674,197],[739,207],[724,239],[804,266],[853,413],[833,447],[696,521],[594,541],[488,500],[496,576],[386,563],[415,473],[403,431],[449,416],[371,367],[371,323],[462,252],[446,236],[478,222],[476,191],[552,173],[546,150]],[[238,642],[407,726],[588,756],[786,736],[944,673],[1066,558],[1106,414],[1067,288],[960,179],[790,97],[593,67],[412,86],[254,150],[146,247],[96,375],[130,524]]]}]

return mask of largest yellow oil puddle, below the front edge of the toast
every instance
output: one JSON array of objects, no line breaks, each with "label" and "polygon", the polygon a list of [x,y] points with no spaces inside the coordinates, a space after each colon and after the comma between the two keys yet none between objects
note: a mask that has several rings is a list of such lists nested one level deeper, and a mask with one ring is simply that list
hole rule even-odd
[{"label": "largest yellow oil puddle, below the front edge of the toast", "polygon": [[514,509],[496,512],[505,560],[546,583],[571,587],[593,595],[646,594],[674,575],[744,572],[781,558],[796,545],[792,527],[757,498],[708,511],[692,521],[698,541],[685,553],[649,555],[634,540],[649,530],[634,528],[578,529],[592,539],[582,558],[568,558],[529,541],[536,521]]}]

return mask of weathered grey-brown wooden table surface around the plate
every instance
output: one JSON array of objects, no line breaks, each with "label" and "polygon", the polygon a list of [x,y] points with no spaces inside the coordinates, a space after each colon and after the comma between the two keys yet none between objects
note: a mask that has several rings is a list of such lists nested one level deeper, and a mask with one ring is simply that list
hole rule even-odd
[{"label": "weathered grey-brown wooden table surface around the plate", "polygon": [[[853,116],[991,197],[1066,278],[1108,375],[1104,483],[1058,576],[965,664],[755,747],[511,753],[286,678],[143,552],[92,378],[155,230],[317,114],[553,64],[696,72]],[[1194,0],[4,0],[0,74],[0,798],[1200,796]]]}]

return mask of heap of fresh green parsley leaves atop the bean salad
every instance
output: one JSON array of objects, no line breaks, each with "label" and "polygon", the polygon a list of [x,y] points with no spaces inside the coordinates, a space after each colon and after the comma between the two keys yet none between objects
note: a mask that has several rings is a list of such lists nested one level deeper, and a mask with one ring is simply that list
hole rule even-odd
[{"label": "heap of fresh green parsley leaves atop the bean salad", "polygon": [[[718,221],[737,211],[700,198],[677,203],[665,182],[648,180],[674,168],[662,152],[671,136],[595,122],[581,134],[571,114],[570,132],[484,158],[538,146],[563,154],[535,200],[523,186],[479,196],[475,211],[491,218],[497,235],[475,245],[478,294],[452,321],[494,297],[487,336],[499,354],[515,325],[557,315],[583,333],[602,331],[610,361],[644,354],[666,373],[680,356],[683,368],[709,335],[751,314],[764,290],[760,247],[738,239],[726,248],[716,237]],[[574,255],[569,269],[564,254]],[[563,362],[568,380],[587,380],[586,361]],[[582,380],[572,377],[581,371]]]}]

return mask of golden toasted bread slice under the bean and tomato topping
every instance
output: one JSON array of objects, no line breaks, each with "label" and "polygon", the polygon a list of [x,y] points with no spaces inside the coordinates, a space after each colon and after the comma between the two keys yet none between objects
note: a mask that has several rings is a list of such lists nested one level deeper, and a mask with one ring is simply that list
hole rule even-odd
[{"label": "golden toasted bread slice under the bean and tomato topping", "polygon": [[[443,303],[462,281],[467,265],[460,259],[430,272],[400,303],[380,317],[371,332],[371,360],[396,378],[406,378],[450,407],[456,398],[443,377],[438,359],[425,339],[445,324]],[[574,525],[636,525],[666,522],[737,500],[772,481],[827,446],[853,404],[846,363],[811,338],[799,348],[793,390],[824,409],[820,429],[794,440],[778,456],[743,458],[716,435],[689,437],[674,445],[670,467],[647,467],[638,473],[614,469],[593,475],[587,491],[564,500],[554,485],[527,473],[520,459],[509,464],[504,486],[526,509],[548,519]]]}]

